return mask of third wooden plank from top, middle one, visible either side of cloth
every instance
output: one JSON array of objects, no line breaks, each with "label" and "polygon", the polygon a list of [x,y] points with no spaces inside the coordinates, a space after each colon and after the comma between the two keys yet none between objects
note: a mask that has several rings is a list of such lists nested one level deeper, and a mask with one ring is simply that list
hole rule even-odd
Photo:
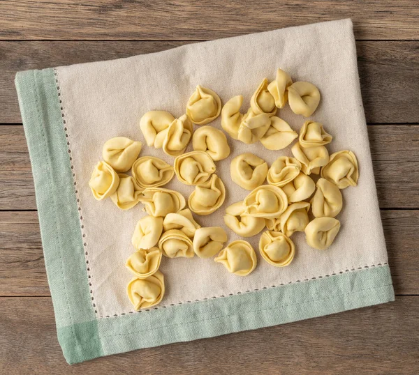
[{"label": "third wooden plank from top, middle one, visible either side of cloth", "polygon": [[[368,130],[381,208],[419,208],[419,125]],[[0,210],[24,209],[36,204],[23,127],[0,126]]]}]

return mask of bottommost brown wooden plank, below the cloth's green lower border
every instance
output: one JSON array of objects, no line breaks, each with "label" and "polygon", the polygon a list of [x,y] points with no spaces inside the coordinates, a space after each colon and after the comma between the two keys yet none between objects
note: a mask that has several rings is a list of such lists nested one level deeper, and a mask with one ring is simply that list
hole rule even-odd
[{"label": "bottommost brown wooden plank, below the cloth's green lower border", "polygon": [[[419,297],[68,366],[50,298],[0,298],[4,374],[417,374]],[[18,360],[17,360],[18,359]],[[36,369],[36,370],[35,370]]]}]

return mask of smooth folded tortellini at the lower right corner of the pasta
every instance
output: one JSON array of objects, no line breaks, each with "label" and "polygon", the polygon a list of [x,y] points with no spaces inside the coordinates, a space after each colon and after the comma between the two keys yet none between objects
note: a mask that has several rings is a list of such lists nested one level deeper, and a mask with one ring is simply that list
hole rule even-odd
[{"label": "smooth folded tortellini at the lower right corner of the pasta", "polygon": [[314,249],[325,250],[332,245],[339,229],[339,220],[333,217],[316,217],[304,230],[307,244]]}]

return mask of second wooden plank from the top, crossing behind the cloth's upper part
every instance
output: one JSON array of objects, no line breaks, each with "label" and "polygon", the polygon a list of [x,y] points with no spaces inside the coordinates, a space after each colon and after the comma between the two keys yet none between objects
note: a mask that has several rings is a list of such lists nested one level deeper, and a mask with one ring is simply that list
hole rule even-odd
[{"label": "second wooden plank from the top, crossing behind the cloth's upper part", "polygon": [[[418,34],[419,35],[419,34]],[[118,59],[186,42],[0,42],[0,123],[20,123],[15,73]],[[419,42],[358,42],[358,67],[369,123],[419,123]]]}]

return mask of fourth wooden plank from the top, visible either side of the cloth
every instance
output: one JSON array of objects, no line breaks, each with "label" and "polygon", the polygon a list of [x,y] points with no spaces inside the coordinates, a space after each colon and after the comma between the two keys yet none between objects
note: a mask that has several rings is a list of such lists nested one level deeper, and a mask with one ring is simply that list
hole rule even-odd
[{"label": "fourth wooden plank from the top, visible either side of the cloth", "polygon": [[[381,211],[397,294],[419,294],[419,211]],[[50,296],[36,212],[0,212],[0,296]]]}]

